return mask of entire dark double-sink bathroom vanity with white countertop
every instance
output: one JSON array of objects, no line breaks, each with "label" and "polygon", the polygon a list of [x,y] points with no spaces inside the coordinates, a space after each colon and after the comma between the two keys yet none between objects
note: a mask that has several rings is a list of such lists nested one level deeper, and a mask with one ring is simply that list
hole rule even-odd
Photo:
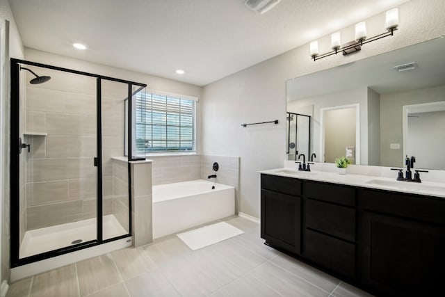
[{"label": "entire dark double-sink bathroom vanity with white countertop", "polygon": [[436,296],[445,267],[445,185],[262,171],[261,237],[372,294]]}]

